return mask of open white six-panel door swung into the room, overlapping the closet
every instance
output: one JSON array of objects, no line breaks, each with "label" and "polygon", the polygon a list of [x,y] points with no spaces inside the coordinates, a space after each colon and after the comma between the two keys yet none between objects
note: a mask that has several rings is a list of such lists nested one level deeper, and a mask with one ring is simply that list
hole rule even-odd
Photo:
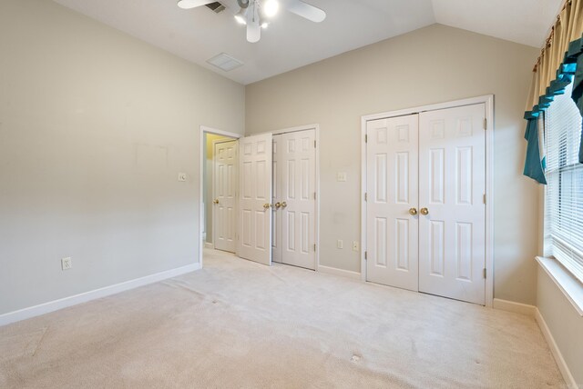
[{"label": "open white six-panel door swung into the room, overlapping the closet", "polygon": [[241,258],[271,265],[271,134],[240,139]]}]

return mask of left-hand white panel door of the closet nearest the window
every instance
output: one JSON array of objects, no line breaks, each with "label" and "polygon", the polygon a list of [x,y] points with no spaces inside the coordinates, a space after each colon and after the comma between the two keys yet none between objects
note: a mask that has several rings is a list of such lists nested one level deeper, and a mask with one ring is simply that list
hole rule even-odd
[{"label": "left-hand white panel door of the closet nearest the window", "polygon": [[367,123],[366,278],[418,290],[418,115]]}]

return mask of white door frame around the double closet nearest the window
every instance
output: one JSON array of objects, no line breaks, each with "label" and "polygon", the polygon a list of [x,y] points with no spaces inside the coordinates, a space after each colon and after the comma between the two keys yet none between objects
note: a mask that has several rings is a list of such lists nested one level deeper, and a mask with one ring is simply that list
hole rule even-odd
[{"label": "white door frame around the double closet nearest the window", "polygon": [[387,119],[394,116],[421,114],[424,111],[435,111],[455,108],[464,105],[484,104],[486,107],[486,306],[492,307],[494,302],[494,95],[454,100],[433,105],[421,105],[380,114],[361,116],[361,279],[366,282],[366,124],[369,121]]}]

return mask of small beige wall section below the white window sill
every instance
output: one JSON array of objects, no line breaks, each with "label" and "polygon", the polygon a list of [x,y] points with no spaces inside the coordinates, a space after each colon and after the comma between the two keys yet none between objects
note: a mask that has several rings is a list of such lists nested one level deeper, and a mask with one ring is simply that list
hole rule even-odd
[{"label": "small beige wall section below the white window sill", "polygon": [[579,387],[583,387],[583,317],[538,267],[537,307]]}]

